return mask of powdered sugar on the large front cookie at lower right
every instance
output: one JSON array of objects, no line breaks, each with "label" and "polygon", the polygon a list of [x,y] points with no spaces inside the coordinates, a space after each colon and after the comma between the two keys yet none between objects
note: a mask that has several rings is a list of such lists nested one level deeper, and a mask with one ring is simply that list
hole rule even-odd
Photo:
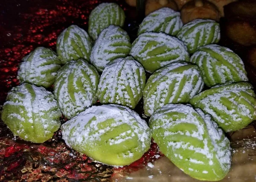
[{"label": "powdered sugar on the large front cookie at lower right", "polygon": [[[182,113],[182,116],[184,116],[177,118],[180,116],[178,113]],[[175,118],[174,120],[172,120],[172,117],[169,117],[170,114]],[[196,130],[170,131],[172,128],[176,128],[175,130],[177,130],[180,124],[182,126],[188,124],[191,128],[193,128],[193,125],[196,127]],[[231,165],[229,140],[224,136],[223,131],[218,128],[218,125],[212,120],[210,115],[205,115],[199,109],[194,110],[190,105],[167,104],[151,116],[149,125],[151,126],[154,140],[160,142],[158,143],[160,149],[161,145],[167,145],[167,149],[170,152],[164,154],[171,158],[172,162],[176,165],[179,166],[183,162],[189,162],[191,166],[195,166],[195,164],[200,166],[205,165],[205,169],[212,170],[211,173],[215,173],[215,169],[209,167],[212,165],[219,166],[224,171],[229,170]],[[157,131],[163,129],[166,132],[161,131],[157,133]],[[191,142],[177,140],[176,138],[180,135],[191,137]],[[159,137],[163,139],[158,140]],[[193,145],[194,140],[201,144]],[[196,155],[193,155],[194,158],[192,156],[180,155],[180,151],[183,150],[190,151]],[[198,171],[196,168],[188,168],[187,166],[183,167],[183,169],[186,172]],[[201,172],[206,173],[205,171]]]}]

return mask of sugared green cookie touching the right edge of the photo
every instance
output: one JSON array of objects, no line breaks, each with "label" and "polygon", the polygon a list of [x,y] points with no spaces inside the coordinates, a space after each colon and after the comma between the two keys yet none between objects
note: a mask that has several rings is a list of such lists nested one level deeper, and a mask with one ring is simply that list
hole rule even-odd
[{"label": "sugared green cookie touching the right edge of the photo", "polygon": [[226,132],[244,128],[256,119],[256,95],[249,83],[237,83],[205,90],[190,104],[212,115]]}]

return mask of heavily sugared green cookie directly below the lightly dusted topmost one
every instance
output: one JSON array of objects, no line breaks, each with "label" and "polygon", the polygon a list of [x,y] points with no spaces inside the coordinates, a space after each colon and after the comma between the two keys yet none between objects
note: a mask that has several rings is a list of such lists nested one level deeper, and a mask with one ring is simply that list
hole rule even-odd
[{"label": "heavily sugared green cookie directly below the lightly dusted topmost one", "polygon": [[126,57],[130,50],[128,34],[120,27],[111,25],[100,33],[93,46],[90,61],[102,72],[110,61]]}]

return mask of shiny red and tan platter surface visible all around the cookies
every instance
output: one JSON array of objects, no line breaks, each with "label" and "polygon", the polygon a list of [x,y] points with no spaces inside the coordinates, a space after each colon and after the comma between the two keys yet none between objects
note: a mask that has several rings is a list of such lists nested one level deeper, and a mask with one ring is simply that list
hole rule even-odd
[{"label": "shiny red and tan platter surface visible all around the cookies", "polygon": [[[60,32],[71,24],[87,29],[90,11],[101,0],[53,0],[42,3],[28,0],[14,4],[3,2],[0,27],[0,105],[4,103],[7,92],[17,85],[18,64],[24,55],[38,46],[55,50]],[[131,42],[136,38],[139,22],[136,9],[124,1],[118,3],[126,13],[124,29]],[[2,2],[1,2],[2,3]],[[141,19],[141,18],[140,18]],[[225,26],[221,20],[221,27]],[[224,28],[221,28],[224,30]],[[244,61],[250,82],[256,87],[256,73],[247,62],[247,48],[229,40],[221,32],[222,46],[230,47]],[[51,90],[51,89],[49,89]],[[145,118],[142,101],[135,111]],[[147,121],[148,118],[145,118]],[[66,120],[62,118],[62,123]],[[223,181],[254,181],[256,164],[255,127],[250,124],[243,130],[228,133],[233,147],[233,164],[230,173]],[[248,139],[250,138],[250,139]],[[154,167],[153,167],[154,166]],[[89,159],[86,155],[68,148],[61,139],[61,132],[44,144],[32,144],[18,137],[3,122],[0,122],[0,181],[198,181],[184,174],[173,165],[157,145],[152,142],[151,149],[129,166],[113,168]]]}]

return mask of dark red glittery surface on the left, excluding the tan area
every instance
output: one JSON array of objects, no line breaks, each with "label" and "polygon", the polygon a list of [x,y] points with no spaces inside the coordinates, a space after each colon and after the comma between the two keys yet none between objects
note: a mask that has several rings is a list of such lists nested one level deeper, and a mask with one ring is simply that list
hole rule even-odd
[{"label": "dark red glittery surface on the left, excluding the tan area", "polygon": [[[55,50],[60,32],[72,24],[87,30],[91,10],[104,0],[2,0],[0,2],[0,109],[7,92],[17,85],[21,59],[38,46]],[[116,2],[128,17],[126,31],[132,33],[135,9],[121,0]],[[127,11],[128,10],[128,11]],[[136,36],[136,34],[134,34]],[[131,39],[132,36],[130,35]],[[142,104],[136,111],[142,115]],[[62,118],[62,122],[66,120]],[[160,154],[157,144],[141,159],[123,168],[113,168],[92,161],[70,148],[58,131],[44,144],[25,142],[0,121],[0,181],[110,181],[111,175],[125,174],[143,168]]]}]

